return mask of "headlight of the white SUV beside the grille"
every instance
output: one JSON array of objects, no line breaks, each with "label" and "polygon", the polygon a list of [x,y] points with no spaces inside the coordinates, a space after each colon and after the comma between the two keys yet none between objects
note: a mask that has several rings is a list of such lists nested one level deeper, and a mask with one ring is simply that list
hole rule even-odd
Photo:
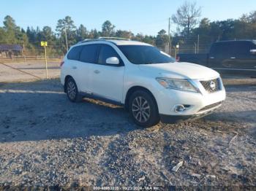
[{"label": "headlight of the white SUV beside the grille", "polygon": [[187,79],[170,79],[170,78],[157,78],[157,82],[165,88],[175,90],[184,90],[189,92],[200,92],[197,87],[192,85]]}]

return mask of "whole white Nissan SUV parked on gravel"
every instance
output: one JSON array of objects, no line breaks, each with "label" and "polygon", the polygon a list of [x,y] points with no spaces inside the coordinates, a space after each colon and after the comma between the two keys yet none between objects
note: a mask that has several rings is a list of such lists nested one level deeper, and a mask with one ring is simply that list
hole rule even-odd
[{"label": "whole white Nissan SUV parked on gravel", "polygon": [[217,71],[124,39],[72,46],[61,63],[61,83],[70,101],[89,97],[124,106],[143,127],[203,117],[225,100]]}]

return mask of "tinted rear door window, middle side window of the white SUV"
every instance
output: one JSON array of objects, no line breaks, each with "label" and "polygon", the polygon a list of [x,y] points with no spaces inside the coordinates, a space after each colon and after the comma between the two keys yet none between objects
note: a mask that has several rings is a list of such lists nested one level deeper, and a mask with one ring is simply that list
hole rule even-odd
[{"label": "tinted rear door window, middle side window of the white SUV", "polygon": [[83,49],[80,52],[80,61],[85,63],[97,63],[97,52],[99,45],[88,44],[82,46]]}]

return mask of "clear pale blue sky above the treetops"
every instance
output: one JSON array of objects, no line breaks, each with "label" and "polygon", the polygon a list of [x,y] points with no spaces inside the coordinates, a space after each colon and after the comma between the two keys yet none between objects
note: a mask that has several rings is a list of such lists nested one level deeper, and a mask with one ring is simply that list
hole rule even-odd
[{"label": "clear pale blue sky above the treetops", "polygon": [[[116,29],[157,35],[161,29],[167,31],[168,17],[186,0],[2,0],[0,26],[6,15],[15,19],[18,26],[42,28],[50,26],[55,31],[57,21],[69,15],[75,26],[83,24],[88,30],[101,30],[102,23],[110,20]],[[197,0],[203,17],[211,21],[237,19],[244,13],[256,10],[256,0]],[[176,26],[171,23],[174,32]]]}]

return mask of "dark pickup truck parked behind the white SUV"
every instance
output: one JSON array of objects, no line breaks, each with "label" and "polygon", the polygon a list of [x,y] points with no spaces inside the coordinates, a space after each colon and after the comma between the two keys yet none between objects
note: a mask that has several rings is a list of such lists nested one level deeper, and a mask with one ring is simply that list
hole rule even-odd
[{"label": "dark pickup truck parked behind the white SUV", "polygon": [[222,75],[256,77],[256,41],[215,42],[208,54],[178,54],[178,60],[207,66]]}]

